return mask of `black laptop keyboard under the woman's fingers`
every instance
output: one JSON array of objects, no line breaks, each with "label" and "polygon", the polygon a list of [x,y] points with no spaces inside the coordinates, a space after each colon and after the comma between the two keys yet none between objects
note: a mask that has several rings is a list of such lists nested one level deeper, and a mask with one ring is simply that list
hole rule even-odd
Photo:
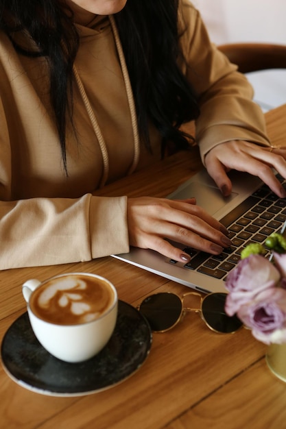
[{"label": "black laptop keyboard under the woman's fingers", "polygon": [[[284,178],[281,175],[276,177],[286,188]],[[210,255],[193,247],[186,247],[184,252],[191,256],[191,260],[184,265],[184,268],[226,280],[228,273],[239,262],[243,247],[250,243],[263,244],[272,232],[281,231],[285,221],[286,198],[277,197],[268,186],[263,184],[220,220],[229,231],[231,247],[224,249],[220,255]],[[178,263],[173,259],[169,262],[174,265]]]}]

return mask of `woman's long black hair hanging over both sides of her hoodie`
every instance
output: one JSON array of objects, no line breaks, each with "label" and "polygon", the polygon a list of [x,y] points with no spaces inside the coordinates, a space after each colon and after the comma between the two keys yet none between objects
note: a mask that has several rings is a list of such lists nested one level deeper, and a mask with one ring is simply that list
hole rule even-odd
[{"label": "woman's long black hair hanging over both sides of her hoodie", "polygon": [[[180,125],[198,117],[195,92],[178,67],[178,0],[128,0],[115,19],[126,56],[136,105],[139,134],[150,147],[151,121],[163,145],[187,147]],[[72,122],[73,62],[79,46],[73,14],[64,0],[0,0],[0,29],[19,53],[45,56],[49,64],[51,106],[67,171],[65,133]],[[36,49],[16,45],[13,34],[25,31]]]}]

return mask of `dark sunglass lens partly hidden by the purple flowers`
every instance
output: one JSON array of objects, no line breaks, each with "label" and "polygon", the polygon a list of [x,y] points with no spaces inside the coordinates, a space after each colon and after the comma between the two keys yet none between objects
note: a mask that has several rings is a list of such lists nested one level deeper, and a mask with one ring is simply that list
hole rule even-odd
[{"label": "dark sunglass lens partly hidden by the purple flowers", "polygon": [[202,302],[202,315],[204,320],[217,332],[230,334],[241,328],[242,324],[238,317],[226,315],[224,305],[226,293],[211,293],[206,295]]}]

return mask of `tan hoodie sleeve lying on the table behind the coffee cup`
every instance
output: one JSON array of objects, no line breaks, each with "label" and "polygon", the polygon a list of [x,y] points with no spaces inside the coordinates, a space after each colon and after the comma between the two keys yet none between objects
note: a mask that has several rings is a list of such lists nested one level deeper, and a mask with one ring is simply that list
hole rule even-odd
[{"label": "tan hoodie sleeve lying on the table behind the coffee cup", "polygon": [[0,202],[0,269],[80,262],[128,252],[126,197]]}]

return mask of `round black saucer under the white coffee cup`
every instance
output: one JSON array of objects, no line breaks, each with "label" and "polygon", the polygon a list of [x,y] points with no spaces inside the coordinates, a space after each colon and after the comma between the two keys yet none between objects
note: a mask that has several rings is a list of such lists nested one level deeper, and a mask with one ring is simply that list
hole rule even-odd
[{"label": "round black saucer under the white coffee cup", "polygon": [[27,312],[5,333],[3,367],[25,389],[53,396],[80,396],[115,386],[137,371],[147,358],[152,332],[136,308],[119,301],[118,317],[104,349],[82,363],[67,363],[45,350],[34,336]]}]

